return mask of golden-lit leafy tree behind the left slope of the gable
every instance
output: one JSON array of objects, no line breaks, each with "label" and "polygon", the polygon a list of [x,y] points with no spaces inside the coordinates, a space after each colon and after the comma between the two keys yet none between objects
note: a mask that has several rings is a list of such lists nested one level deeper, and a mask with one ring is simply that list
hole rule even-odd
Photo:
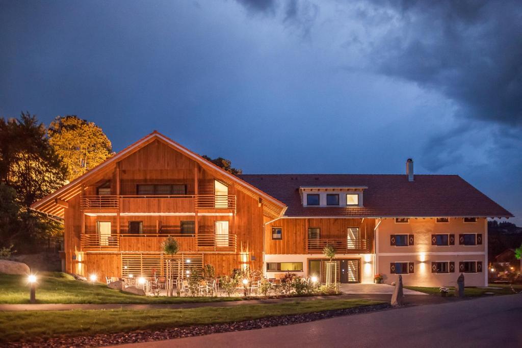
[{"label": "golden-lit leafy tree behind the left slope of the gable", "polygon": [[93,122],[75,115],[58,116],[49,126],[49,142],[67,166],[73,181],[112,155],[111,141]]}]

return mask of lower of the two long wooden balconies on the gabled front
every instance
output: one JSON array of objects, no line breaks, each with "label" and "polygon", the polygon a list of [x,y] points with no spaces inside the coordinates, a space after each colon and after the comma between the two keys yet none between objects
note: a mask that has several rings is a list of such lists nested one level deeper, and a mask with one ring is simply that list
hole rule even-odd
[{"label": "lower of the two long wooden balconies on the gabled front", "polygon": [[238,236],[235,234],[112,234],[100,236],[92,233],[81,235],[80,241],[81,248],[85,251],[117,249],[117,251],[159,252],[162,250],[161,243],[168,237],[176,239],[180,252],[235,253],[237,249]]}]

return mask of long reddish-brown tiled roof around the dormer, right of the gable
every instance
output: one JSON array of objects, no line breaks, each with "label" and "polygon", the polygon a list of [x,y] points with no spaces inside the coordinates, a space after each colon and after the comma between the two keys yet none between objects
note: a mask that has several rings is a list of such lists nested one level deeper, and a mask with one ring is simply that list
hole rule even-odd
[{"label": "long reddish-brown tiled roof around the dormer, right of the gable", "polygon": [[[288,217],[513,217],[458,175],[244,174],[285,203]],[[303,207],[300,187],[367,186],[364,207]]]}]

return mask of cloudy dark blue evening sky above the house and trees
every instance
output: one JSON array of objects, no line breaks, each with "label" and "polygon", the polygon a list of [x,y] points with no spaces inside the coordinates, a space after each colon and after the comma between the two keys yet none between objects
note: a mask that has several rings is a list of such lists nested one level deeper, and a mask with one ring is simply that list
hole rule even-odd
[{"label": "cloudy dark blue evening sky above the house and trees", "polygon": [[0,116],[244,173],[459,174],[522,225],[519,1],[0,1]]}]

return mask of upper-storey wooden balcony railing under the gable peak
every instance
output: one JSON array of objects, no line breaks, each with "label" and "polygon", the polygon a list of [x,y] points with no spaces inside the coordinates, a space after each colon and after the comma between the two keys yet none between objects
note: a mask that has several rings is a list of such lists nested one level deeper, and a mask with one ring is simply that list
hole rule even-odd
[{"label": "upper-storey wooden balcony railing under the gable peak", "polygon": [[[80,207],[82,210],[119,209],[120,199],[122,212],[186,212],[236,208],[234,195],[82,196]],[[144,209],[147,211],[141,211]]]}]

